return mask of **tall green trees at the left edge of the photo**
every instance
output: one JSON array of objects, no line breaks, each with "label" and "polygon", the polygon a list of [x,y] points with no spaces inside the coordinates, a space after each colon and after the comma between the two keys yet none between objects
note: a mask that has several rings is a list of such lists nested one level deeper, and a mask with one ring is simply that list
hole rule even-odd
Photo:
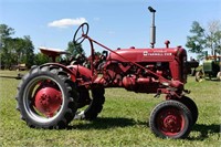
[{"label": "tall green trees at the left edge of the photo", "polygon": [[6,24],[0,24],[1,36],[1,65],[11,69],[13,65],[25,63],[28,67],[33,65],[34,46],[29,35],[12,38],[14,30]]}]

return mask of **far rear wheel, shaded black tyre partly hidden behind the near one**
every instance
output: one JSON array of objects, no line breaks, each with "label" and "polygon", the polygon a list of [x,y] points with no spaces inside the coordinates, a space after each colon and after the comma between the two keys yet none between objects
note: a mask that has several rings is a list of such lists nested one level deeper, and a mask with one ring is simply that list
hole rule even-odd
[{"label": "far rear wheel, shaded black tyre partly hidden behind the near one", "polygon": [[91,90],[92,99],[90,98],[90,92],[85,87],[78,91],[78,109],[75,115],[75,119],[88,119],[93,120],[97,118],[97,115],[103,109],[105,102],[105,91],[102,86],[96,86]]}]

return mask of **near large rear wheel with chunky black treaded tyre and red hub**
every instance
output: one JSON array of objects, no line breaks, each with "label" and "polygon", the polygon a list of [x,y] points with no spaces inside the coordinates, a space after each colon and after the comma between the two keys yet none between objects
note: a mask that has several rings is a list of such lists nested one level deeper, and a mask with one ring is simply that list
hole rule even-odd
[{"label": "near large rear wheel with chunky black treaded tyre and red hub", "polygon": [[18,86],[18,111],[30,127],[64,128],[76,112],[77,93],[56,66],[32,69]]}]

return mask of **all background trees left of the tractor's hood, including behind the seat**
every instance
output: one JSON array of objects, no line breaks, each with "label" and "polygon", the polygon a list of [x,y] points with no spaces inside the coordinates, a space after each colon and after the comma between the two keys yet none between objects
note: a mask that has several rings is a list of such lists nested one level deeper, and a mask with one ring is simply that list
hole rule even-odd
[{"label": "all background trees left of the tractor's hood, including behind the seat", "polygon": [[[34,53],[34,45],[30,35],[12,38],[14,33],[14,29],[7,24],[0,24],[0,69],[10,70],[19,64],[25,64],[30,69],[32,65],[51,62],[51,59],[41,52]],[[66,51],[72,56],[76,54],[85,55],[82,45],[75,45],[72,41],[67,43]]]}]

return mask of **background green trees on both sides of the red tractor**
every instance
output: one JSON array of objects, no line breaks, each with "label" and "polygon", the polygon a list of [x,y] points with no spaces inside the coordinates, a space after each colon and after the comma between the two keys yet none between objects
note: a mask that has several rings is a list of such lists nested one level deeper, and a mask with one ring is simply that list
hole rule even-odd
[{"label": "background green trees on both sides of the red tractor", "polygon": [[[25,64],[28,67],[50,62],[49,56],[42,53],[34,53],[34,45],[30,35],[23,38],[12,38],[14,29],[7,24],[0,24],[0,67],[11,69],[13,65]],[[211,55],[221,54],[221,23],[220,21],[209,22],[208,28],[203,28],[199,22],[193,21],[191,35],[187,36],[186,46],[189,52],[196,53],[198,59],[202,59],[210,51]],[[72,41],[67,43],[67,52],[71,56],[84,55],[82,45],[75,45]],[[66,56],[70,57],[70,56]]]}]

